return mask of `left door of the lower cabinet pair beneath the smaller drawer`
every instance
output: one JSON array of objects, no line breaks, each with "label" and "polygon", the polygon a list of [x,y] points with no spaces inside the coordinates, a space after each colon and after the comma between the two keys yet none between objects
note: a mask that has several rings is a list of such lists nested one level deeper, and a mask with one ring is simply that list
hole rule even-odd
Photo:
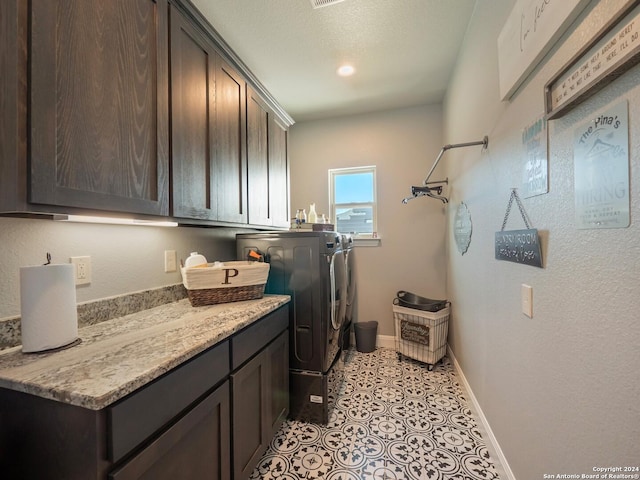
[{"label": "left door of the lower cabinet pair beneath the smaller drawer", "polygon": [[271,437],[267,350],[231,375],[233,401],[233,478],[247,479]]}]

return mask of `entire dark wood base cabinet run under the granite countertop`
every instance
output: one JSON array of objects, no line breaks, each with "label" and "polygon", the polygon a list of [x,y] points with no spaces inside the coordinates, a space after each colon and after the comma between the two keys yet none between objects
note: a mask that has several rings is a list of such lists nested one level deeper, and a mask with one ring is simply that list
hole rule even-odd
[{"label": "entire dark wood base cabinet run under the granite countertop", "polygon": [[102,410],[0,388],[0,477],[248,478],[289,412],[288,308]]}]

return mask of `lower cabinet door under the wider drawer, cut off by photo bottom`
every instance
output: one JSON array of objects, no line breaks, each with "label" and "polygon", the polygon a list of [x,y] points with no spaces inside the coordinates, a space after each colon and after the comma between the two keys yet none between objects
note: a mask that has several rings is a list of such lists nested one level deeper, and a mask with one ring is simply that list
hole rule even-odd
[{"label": "lower cabinet door under the wider drawer, cut off by photo bottom", "polygon": [[229,436],[225,382],[109,479],[229,479]]}]

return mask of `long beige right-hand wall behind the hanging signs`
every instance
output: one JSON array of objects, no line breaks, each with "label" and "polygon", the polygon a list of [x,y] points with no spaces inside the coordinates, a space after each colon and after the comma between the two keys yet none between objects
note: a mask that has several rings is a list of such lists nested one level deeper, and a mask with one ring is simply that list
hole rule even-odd
[{"label": "long beige right-hand wall behind the hanging signs", "polygon": [[[545,268],[494,260],[510,188],[522,171],[521,132],[544,110],[543,88],[623,0],[591,2],[510,102],[498,92],[496,42],[514,0],[480,0],[444,104],[444,139],[489,135],[456,151],[451,222],[464,201],[473,237],[448,249],[449,342],[518,479],[592,474],[640,459],[640,67],[549,124],[549,193],[524,200],[545,238]],[[593,115],[629,102],[631,226],[577,230],[573,143]],[[508,228],[522,228],[517,210]],[[534,318],[520,311],[533,286]]]}]

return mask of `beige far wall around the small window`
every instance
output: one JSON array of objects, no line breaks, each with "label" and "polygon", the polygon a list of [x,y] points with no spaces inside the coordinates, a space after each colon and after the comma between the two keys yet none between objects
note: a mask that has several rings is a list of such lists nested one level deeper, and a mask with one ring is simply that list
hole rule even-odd
[{"label": "beige far wall around the small window", "polygon": [[[445,209],[433,199],[402,198],[419,185],[442,147],[439,105],[295,124],[291,130],[291,209],[329,210],[330,168],[376,165],[379,247],[357,247],[359,319],[393,335],[398,290],[445,295]],[[438,177],[440,171],[434,174]],[[439,177],[438,177],[439,178]]]}]

